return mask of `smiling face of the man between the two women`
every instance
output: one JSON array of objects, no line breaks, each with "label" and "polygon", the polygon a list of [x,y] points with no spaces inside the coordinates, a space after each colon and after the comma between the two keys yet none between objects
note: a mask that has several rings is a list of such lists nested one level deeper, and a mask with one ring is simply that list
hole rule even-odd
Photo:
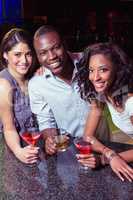
[{"label": "smiling face of the man between the two women", "polygon": [[55,75],[62,72],[67,54],[56,32],[48,32],[34,39],[34,46],[41,65],[47,67]]}]

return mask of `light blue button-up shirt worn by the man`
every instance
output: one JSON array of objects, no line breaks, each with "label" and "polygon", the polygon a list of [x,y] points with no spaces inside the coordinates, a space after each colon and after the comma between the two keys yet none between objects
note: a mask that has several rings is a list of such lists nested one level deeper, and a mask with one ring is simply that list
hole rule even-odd
[{"label": "light blue button-up shirt worn by the man", "polygon": [[37,114],[40,130],[57,126],[72,136],[83,135],[90,104],[81,99],[77,81],[73,79],[69,85],[45,69],[43,75],[29,81],[28,88],[31,109]]}]

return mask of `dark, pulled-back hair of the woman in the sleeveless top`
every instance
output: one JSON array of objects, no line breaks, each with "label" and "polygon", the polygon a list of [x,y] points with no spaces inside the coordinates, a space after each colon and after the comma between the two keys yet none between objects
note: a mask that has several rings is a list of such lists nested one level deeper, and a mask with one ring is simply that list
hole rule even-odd
[{"label": "dark, pulled-back hair of the woman in the sleeveless top", "polygon": [[16,44],[18,44],[20,42],[26,43],[32,52],[33,62],[32,62],[32,67],[31,67],[32,69],[30,69],[28,72],[28,75],[29,75],[33,72],[33,68],[35,67],[35,64],[37,63],[37,60],[36,60],[37,58],[36,58],[36,54],[35,54],[34,47],[33,47],[32,37],[24,29],[12,28],[9,32],[7,32],[4,35],[4,37],[1,41],[1,45],[0,45],[0,65],[2,68],[7,67],[7,61],[3,57],[4,52],[7,53]]}]

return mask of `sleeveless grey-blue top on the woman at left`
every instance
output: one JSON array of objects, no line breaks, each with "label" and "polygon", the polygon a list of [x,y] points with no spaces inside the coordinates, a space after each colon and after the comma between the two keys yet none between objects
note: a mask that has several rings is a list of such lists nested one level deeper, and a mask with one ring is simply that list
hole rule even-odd
[{"label": "sleeveless grey-blue top on the woman at left", "polygon": [[[31,127],[38,130],[35,115],[31,112],[29,96],[25,95],[20,89],[17,81],[9,73],[8,69],[0,72],[0,78],[9,81],[13,89],[12,110],[14,115],[14,124],[18,133],[28,131]],[[0,132],[3,132],[3,125],[0,121]]]}]

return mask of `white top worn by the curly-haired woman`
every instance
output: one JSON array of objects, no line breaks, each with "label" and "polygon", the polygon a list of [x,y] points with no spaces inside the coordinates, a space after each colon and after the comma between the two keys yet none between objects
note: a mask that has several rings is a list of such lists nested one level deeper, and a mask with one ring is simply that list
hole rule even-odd
[{"label": "white top worn by the curly-haired woman", "polygon": [[133,97],[129,97],[126,100],[125,108],[122,112],[118,112],[109,102],[106,103],[110,110],[114,124],[129,136],[133,135],[133,124],[130,120],[130,117],[133,116]]}]

